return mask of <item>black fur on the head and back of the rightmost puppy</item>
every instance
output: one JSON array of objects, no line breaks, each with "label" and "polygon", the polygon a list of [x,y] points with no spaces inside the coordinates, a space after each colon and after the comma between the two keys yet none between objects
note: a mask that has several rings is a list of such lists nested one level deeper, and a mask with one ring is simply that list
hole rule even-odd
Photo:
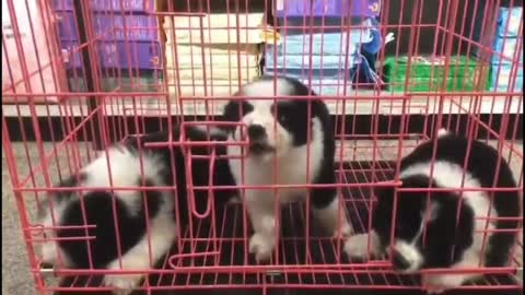
[{"label": "black fur on the head and back of the rightmost puppy", "polygon": [[[435,161],[443,161],[464,166],[468,140],[453,134],[438,139]],[[412,153],[401,161],[400,170],[417,164],[428,163],[432,158],[433,141],[420,144]],[[498,162],[501,161],[500,174],[495,177]],[[495,179],[498,188],[516,187],[512,172],[506,162],[497,151],[479,141],[472,141],[467,170],[483,188],[492,187]],[[427,208],[424,189],[438,187],[427,176],[410,176],[402,180],[402,188],[422,188],[419,192],[398,192],[396,235],[410,241],[422,222],[421,212]],[[394,189],[385,189],[378,194],[378,203],[373,212],[373,227],[377,232],[382,246],[389,245],[392,214],[394,210]],[[454,192],[432,192],[431,200],[438,204],[439,211],[435,219],[428,224],[425,245],[419,244],[424,257],[423,268],[445,268],[460,259],[460,255],[472,244],[474,212],[464,202],[456,220],[459,198]],[[493,193],[493,208],[498,216],[516,217],[520,215],[520,201],[517,192],[498,191]],[[497,228],[517,228],[517,221],[498,221]],[[486,252],[487,267],[502,267],[506,264],[510,249],[515,241],[513,233],[494,233],[488,240]],[[452,252],[454,251],[454,256]]]}]

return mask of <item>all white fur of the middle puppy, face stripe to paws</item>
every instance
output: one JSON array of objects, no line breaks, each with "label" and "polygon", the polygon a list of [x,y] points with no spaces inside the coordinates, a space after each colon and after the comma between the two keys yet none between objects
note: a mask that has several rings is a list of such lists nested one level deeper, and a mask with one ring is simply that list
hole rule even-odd
[{"label": "all white fur of the middle puppy, face stripe to paws", "polygon": [[[293,93],[293,88],[285,81],[277,80],[276,83],[278,94]],[[273,81],[259,81],[248,84],[242,92],[248,97],[271,97],[273,96]],[[302,185],[313,181],[323,160],[324,137],[320,121],[317,118],[313,119],[312,142],[310,144],[293,146],[292,134],[280,126],[271,114],[272,99],[252,99],[249,104],[254,109],[242,118],[242,122],[247,126],[252,123],[262,126],[268,135],[268,144],[275,149],[275,152],[262,156],[250,156],[246,154],[246,151],[243,152],[243,150],[247,150],[246,148],[229,145],[229,155],[237,156],[230,160],[230,167],[236,182],[248,186],[271,186],[273,184]],[[243,134],[241,132],[242,128],[237,128],[233,139],[230,140],[238,141],[242,139]],[[310,161],[310,166],[307,166],[307,161]],[[277,165],[275,165],[276,162]],[[307,179],[307,175],[311,179]],[[304,188],[245,190],[244,200],[255,231],[249,239],[249,251],[255,253],[257,261],[268,260],[276,246],[276,234],[278,233],[275,216],[276,200],[279,199],[281,204],[301,201],[308,196],[307,193],[307,189]],[[326,228],[334,229],[334,235],[349,235],[352,231],[346,219],[346,213],[342,211],[340,219],[338,217],[340,206],[339,198],[335,198],[327,208],[316,210],[314,213]],[[338,221],[342,224],[340,231]]]}]

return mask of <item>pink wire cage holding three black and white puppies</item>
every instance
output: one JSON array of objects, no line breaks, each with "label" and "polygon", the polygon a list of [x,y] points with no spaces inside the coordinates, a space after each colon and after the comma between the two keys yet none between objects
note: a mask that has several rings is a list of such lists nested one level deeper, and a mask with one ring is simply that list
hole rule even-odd
[{"label": "pink wire cage holding three black and white puppies", "polygon": [[[302,57],[301,74],[305,76],[305,84],[322,90],[319,95],[335,120],[338,180],[335,186],[346,204],[340,209],[341,214],[350,216],[355,232],[366,232],[371,226],[373,189],[398,187],[401,156],[433,138],[441,127],[466,134],[470,140],[490,143],[509,163],[523,164],[520,143],[523,93],[515,87],[523,74],[523,56],[520,56],[523,21],[517,25],[514,52],[509,56],[505,50],[499,51],[493,46],[497,36],[508,35],[513,26],[510,19],[502,24],[498,17],[501,4],[499,0],[383,1],[381,13],[375,17],[376,30],[383,38],[388,33],[394,33],[396,38],[376,54],[374,62],[378,64],[376,74],[381,80],[377,83],[359,82],[359,78],[352,80],[347,74],[331,79],[324,76],[323,71],[314,81],[307,71],[310,68],[312,72],[313,55]],[[510,1],[508,7],[516,8],[518,1]],[[268,58],[270,50],[277,52],[271,44],[275,39],[282,40],[287,30],[299,30],[308,36],[325,31],[359,31],[363,26],[345,21],[319,24],[315,23],[314,15],[301,17],[300,24],[288,23],[287,19],[282,21],[272,13],[276,8],[271,0],[2,0],[2,8],[8,11],[2,13],[2,23],[3,19],[10,22],[9,27],[2,28],[2,146],[31,273],[35,290],[42,294],[57,290],[108,290],[90,283],[92,278],[107,274],[105,270],[69,270],[58,266],[50,271],[42,266],[35,247],[49,238],[39,235],[44,228],[34,211],[47,193],[63,189],[54,184],[85,166],[100,150],[136,134],[170,130],[176,122],[184,130],[195,125],[195,120],[210,127],[229,125],[215,118],[232,94],[253,79],[249,70],[240,66],[249,63],[246,52],[257,51],[255,71],[260,74],[265,66],[259,61]],[[222,15],[224,21],[214,23],[214,14]],[[252,25],[253,17],[260,17],[260,23]],[[479,19],[485,21],[478,24]],[[499,27],[503,27],[501,34],[494,33]],[[259,33],[254,37],[253,32]],[[224,39],[220,45],[214,44],[221,34]],[[177,43],[180,36],[187,36],[185,44]],[[287,44],[281,45],[279,50],[285,52]],[[305,51],[312,51],[314,45],[305,42],[304,46],[310,47]],[[219,50],[228,57],[224,64],[219,64]],[[276,64],[277,57],[272,57]],[[320,63],[323,58],[320,56]],[[388,59],[398,62],[404,58],[406,63],[399,73],[386,73],[384,64]],[[418,62],[438,58],[441,63],[420,66]],[[339,63],[340,72],[351,72],[348,55],[340,57]],[[429,75],[417,76],[418,67],[425,67]],[[509,74],[503,90],[490,86],[494,78],[505,79],[500,74],[504,71]],[[402,82],[395,86],[395,78],[384,79],[387,74],[399,74],[404,76]],[[222,80],[217,79],[220,75]],[[450,81],[455,82],[451,85]],[[389,86],[385,86],[387,84]],[[326,88],[332,92],[323,93]],[[179,139],[150,146],[187,149],[191,144],[183,132]],[[201,144],[212,150],[217,145],[211,141]],[[199,156],[189,153],[189,158]],[[214,152],[210,153],[211,165],[218,157]],[[190,176],[191,161],[187,163]],[[514,172],[518,182],[517,188],[512,188],[514,191],[523,190],[522,164]],[[166,257],[163,268],[136,270],[159,275],[158,281],[140,287],[144,291],[421,288],[416,278],[394,272],[385,257],[366,263],[341,260],[342,240],[311,234],[310,202],[285,209],[278,219],[279,226],[288,227],[295,235],[278,236],[280,246],[271,263],[255,264],[247,252],[248,223],[243,205],[230,204],[223,212],[228,221],[226,217],[213,219],[211,224],[206,224],[214,212],[214,191],[225,188],[178,185],[188,186],[188,198],[192,198],[194,191],[208,191],[208,209],[197,212],[191,201],[190,208],[176,209],[187,210],[192,216],[190,228],[195,229],[179,233],[177,239],[177,247],[189,251]],[[290,187],[293,186],[259,188],[277,191]],[[494,186],[483,190],[491,193],[505,189],[509,190]],[[462,189],[467,190],[471,188]],[[516,220],[522,224],[522,217]],[[235,236],[232,231],[242,234]],[[292,250],[279,251],[284,248]],[[520,240],[509,267],[463,271],[513,276],[523,269],[522,251]],[[47,280],[49,272],[78,279],[70,286],[57,287]],[[523,290],[523,283],[504,283],[494,278],[488,276],[483,284],[464,288]]]}]

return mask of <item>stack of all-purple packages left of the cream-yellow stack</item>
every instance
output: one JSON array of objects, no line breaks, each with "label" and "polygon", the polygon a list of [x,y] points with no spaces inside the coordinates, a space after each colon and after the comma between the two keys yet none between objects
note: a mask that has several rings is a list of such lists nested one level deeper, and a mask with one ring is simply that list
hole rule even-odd
[{"label": "stack of all-purple packages left of the cream-yellow stack", "polygon": [[[73,91],[83,91],[82,49],[75,17],[74,0],[55,0],[60,48]],[[89,1],[97,58],[103,73],[103,90],[117,85],[121,91],[144,91],[138,85],[154,85],[161,75],[161,46],[158,23],[144,11],[144,1],[153,0],[91,0]],[[120,3],[124,3],[124,7]],[[74,81],[71,81],[74,80]],[[138,80],[138,81],[137,81]],[[151,88],[153,90],[153,88]]]}]

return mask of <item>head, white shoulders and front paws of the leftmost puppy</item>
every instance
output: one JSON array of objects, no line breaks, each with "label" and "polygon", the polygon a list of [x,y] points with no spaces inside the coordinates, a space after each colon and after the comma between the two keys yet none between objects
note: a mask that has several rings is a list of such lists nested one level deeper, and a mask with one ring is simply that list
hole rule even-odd
[{"label": "head, white shoulders and front paws of the leftmost puppy", "polygon": [[[163,155],[151,150],[140,155],[136,146],[117,144],[102,152],[79,177],[60,182],[66,190],[48,196],[40,208],[47,239],[39,248],[42,261],[69,269],[150,269],[175,240],[173,193],[109,188],[168,186],[168,169]],[[129,294],[143,276],[106,274],[104,284]]]}]

